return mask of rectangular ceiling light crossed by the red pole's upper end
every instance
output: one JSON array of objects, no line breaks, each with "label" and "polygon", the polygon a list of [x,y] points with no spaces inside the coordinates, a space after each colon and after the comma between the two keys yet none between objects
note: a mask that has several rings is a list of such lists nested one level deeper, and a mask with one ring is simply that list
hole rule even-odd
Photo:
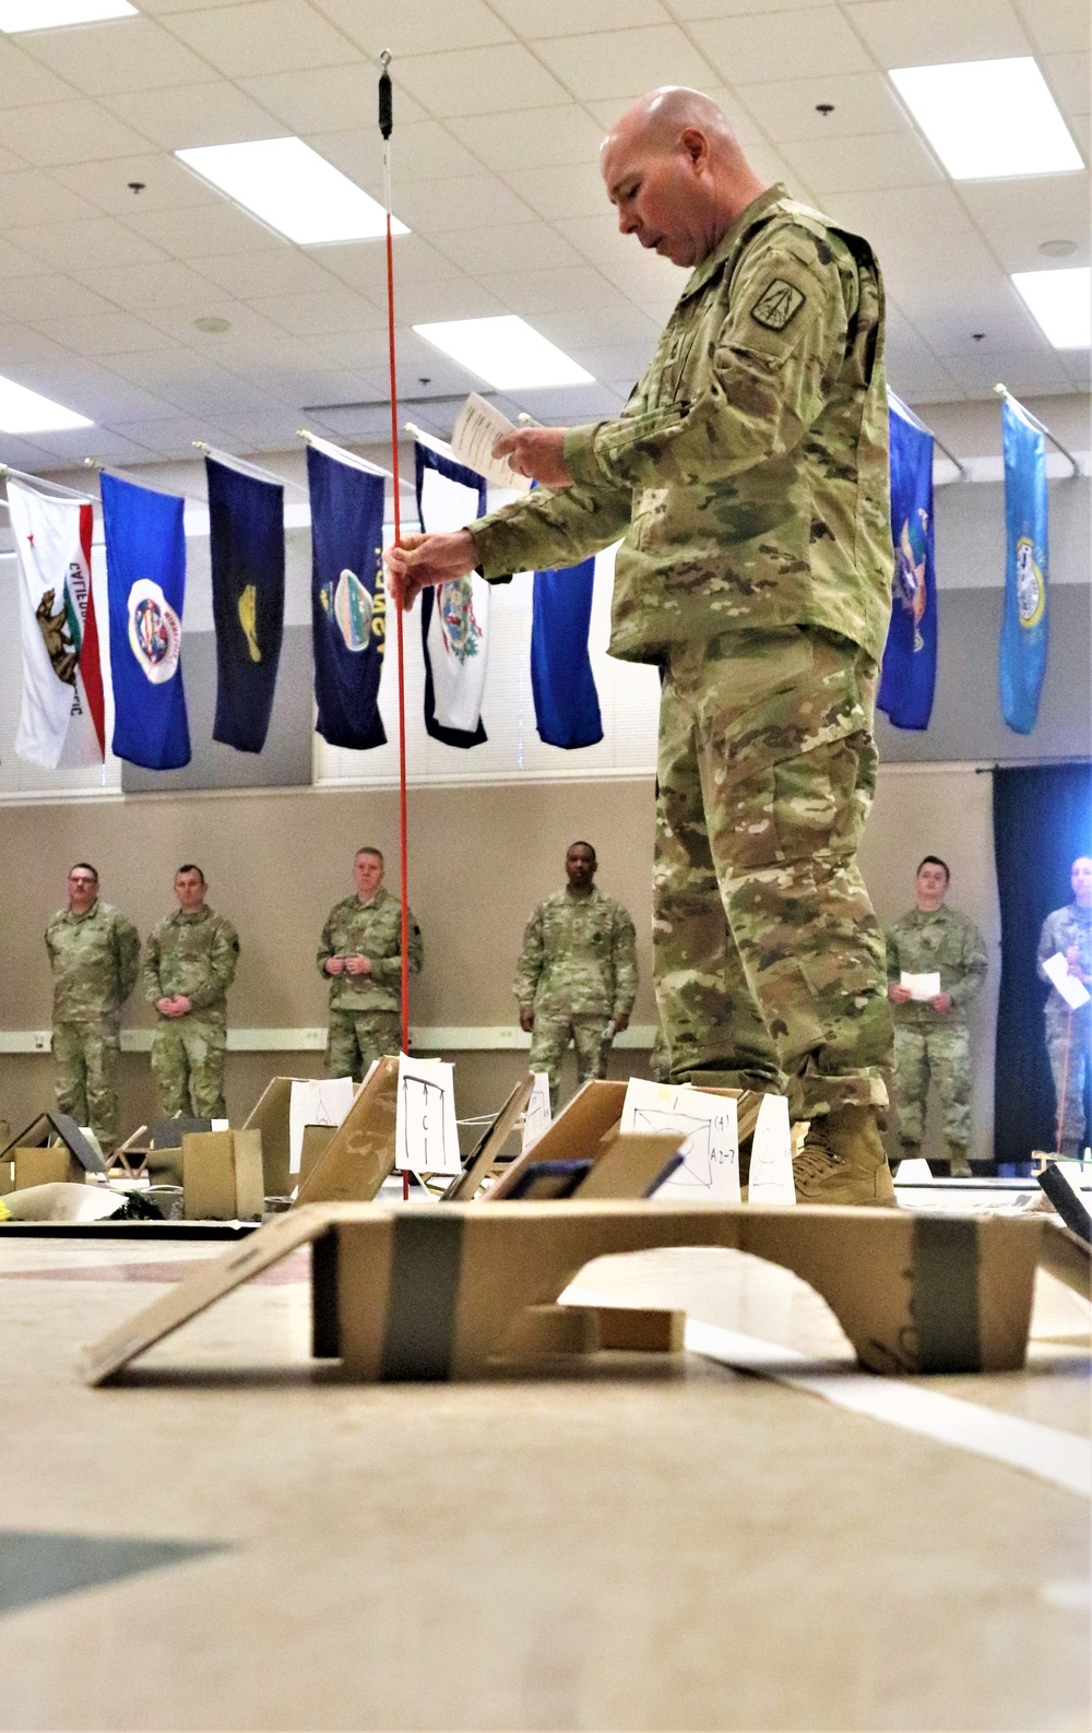
[{"label": "rectangular ceiling light crossed by the red pole's upper end", "polygon": [[[302,139],[205,144],[175,156],[298,246],[387,234],[383,206]],[[409,234],[409,229],[393,218],[392,232]]]}]

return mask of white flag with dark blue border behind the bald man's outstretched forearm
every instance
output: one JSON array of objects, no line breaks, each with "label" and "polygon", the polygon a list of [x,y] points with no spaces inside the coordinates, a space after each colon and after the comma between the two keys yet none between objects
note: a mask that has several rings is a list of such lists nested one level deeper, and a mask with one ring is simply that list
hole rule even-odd
[{"label": "white flag with dark blue border behind the bald man's outstretched forearm", "polygon": [[[485,478],[418,444],[418,516],[430,534],[461,530],[485,515]],[[489,653],[489,584],[477,572],[421,591],[425,731],[449,747],[480,747]]]}]

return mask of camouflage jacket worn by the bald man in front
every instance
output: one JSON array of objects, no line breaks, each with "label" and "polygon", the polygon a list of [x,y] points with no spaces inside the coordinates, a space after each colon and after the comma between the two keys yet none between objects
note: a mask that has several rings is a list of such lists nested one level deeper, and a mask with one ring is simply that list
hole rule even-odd
[{"label": "camouflage jacket worn by the bald man in front", "polygon": [[574,485],[471,523],[487,579],[624,535],[610,653],[818,626],[877,662],[891,612],[884,291],[872,248],[770,187],[690,277]]}]

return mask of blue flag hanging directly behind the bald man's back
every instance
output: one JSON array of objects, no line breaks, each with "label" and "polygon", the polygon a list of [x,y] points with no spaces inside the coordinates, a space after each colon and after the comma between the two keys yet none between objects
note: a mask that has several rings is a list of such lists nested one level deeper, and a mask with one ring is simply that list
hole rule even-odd
[{"label": "blue flag hanging directly behind the bald man's back", "polygon": [[927,728],[936,688],[936,567],[933,558],[933,433],[887,393],[891,428],[891,626],[877,695],[896,728]]}]

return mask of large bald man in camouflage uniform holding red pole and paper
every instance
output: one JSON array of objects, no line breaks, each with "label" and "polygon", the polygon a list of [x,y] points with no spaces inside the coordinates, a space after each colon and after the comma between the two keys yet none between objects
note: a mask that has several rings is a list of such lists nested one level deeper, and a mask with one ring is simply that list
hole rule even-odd
[{"label": "large bald man in camouflage uniform holding red pole and paper", "polygon": [[671,1076],[783,1092],[797,1194],[891,1201],[882,936],[856,863],[891,612],[884,295],[861,236],[653,92],[601,153],[619,225],[692,270],[621,416],[525,428],[539,489],[387,553],[395,594],[622,537],[610,653],[662,671],[653,941]]}]

